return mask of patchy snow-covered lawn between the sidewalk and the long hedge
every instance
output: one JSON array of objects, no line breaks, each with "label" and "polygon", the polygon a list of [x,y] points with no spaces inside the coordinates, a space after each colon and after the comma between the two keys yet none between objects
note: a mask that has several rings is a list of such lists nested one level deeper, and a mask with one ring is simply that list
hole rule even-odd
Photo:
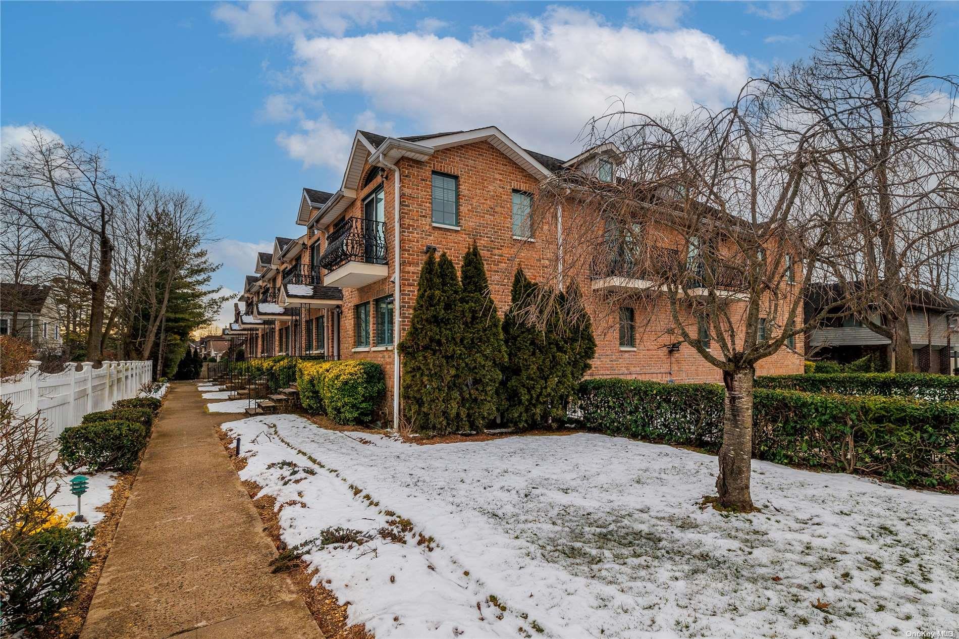
[{"label": "patchy snow-covered lawn between the sidewalk and the long hedge", "polygon": [[[334,526],[376,537],[304,558],[378,639],[959,627],[959,496],[754,461],[762,511],[727,515],[699,507],[715,458],[669,446],[592,434],[417,446],[294,415],[223,427],[251,454],[243,479],[292,501],[287,544]],[[377,533],[386,510],[409,518],[407,545]],[[433,552],[415,545],[420,532]]]}]

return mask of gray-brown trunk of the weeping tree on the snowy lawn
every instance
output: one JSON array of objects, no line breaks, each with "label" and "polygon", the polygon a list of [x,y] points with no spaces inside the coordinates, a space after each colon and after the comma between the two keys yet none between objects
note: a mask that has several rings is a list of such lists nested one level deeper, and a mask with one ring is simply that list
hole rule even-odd
[{"label": "gray-brown trunk of the weeping tree on the snowy lawn", "polygon": [[723,508],[749,511],[749,474],[753,455],[753,367],[724,370],[723,437],[719,448],[719,476],[716,491]]}]

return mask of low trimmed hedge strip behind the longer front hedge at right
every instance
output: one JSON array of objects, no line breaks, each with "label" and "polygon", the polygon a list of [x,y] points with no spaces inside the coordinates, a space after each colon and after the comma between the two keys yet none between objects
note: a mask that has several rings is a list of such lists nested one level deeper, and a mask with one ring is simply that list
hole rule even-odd
[{"label": "low trimmed hedge strip behind the longer front hedge at right", "polygon": [[[816,364],[818,368],[819,364]],[[934,373],[762,375],[756,378],[756,388],[959,401],[959,377]]]}]

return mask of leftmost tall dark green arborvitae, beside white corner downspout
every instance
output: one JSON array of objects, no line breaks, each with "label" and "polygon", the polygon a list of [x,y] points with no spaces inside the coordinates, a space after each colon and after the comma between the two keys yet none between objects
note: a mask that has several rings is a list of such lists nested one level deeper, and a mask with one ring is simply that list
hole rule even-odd
[{"label": "leftmost tall dark green arborvitae, beside white corner downspout", "polygon": [[420,271],[403,355],[401,397],[412,428],[432,435],[456,433],[466,417],[460,382],[463,366],[456,266],[433,252]]}]

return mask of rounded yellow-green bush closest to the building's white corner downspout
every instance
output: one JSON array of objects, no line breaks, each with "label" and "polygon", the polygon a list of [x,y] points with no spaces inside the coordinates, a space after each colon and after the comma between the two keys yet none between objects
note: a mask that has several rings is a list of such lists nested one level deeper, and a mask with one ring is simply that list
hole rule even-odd
[{"label": "rounded yellow-green bush closest to the building's white corner downspout", "polygon": [[296,370],[300,404],[338,424],[365,423],[386,393],[383,367],[366,360],[301,361]]}]

